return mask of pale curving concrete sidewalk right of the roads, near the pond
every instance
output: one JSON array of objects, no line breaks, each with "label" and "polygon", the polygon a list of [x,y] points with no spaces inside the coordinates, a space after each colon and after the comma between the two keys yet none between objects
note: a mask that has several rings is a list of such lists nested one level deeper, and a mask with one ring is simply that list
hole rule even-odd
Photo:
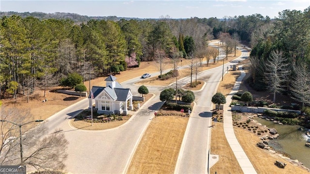
[{"label": "pale curving concrete sidewalk right of the roads, near the pond", "polygon": [[232,111],[229,107],[232,102],[233,94],[238,92],[242,79],[246,76],[246,73],[242,70],[242,66],[239,66],[241,76],[236,80],[233,90],[226,97],[226,104],[224,104],[223,113],[223,126],[226,139],[233,150],[234,156],[237,158],[238,163],[245,174],[257,174],[251,161],[248,159],[247,154],[243,151],[241,145],[239,144],[234,132],[233,132],[233,118]]}]

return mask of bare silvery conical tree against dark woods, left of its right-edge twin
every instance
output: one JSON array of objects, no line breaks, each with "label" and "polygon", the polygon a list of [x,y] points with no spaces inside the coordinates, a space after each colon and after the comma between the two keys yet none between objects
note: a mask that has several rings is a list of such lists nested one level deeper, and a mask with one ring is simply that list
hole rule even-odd
[{"label": "bare silvery conical tree against dark woods, left of its right-edge twin", "polygon": [[264,81],[268,86],[268,90],[273,93],[273,102],[276,102],[276,93],[282,90],[282,82],[288,74],[286,58],[282,57],[282,53],[273,51],[267,63],[265,64]]}]

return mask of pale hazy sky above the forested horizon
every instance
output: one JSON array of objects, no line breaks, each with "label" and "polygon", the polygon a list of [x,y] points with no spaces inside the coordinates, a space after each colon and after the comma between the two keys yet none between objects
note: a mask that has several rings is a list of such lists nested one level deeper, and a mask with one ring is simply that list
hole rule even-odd
[{"label": "pale hazy sky above the forested horizon", "polygon": [[304,11],[310,0],[0,0],[0,11],[66,12],[86,16],[209,18]]}]

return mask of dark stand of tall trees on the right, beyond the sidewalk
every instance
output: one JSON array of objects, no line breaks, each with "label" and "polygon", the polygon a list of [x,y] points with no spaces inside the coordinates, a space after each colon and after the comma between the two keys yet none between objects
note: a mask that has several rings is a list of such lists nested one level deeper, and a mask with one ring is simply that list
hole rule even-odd
[{"label": "dark stand of tall trees on the right, beyond the sidewalk", "polygon": [[251,34],[250,84],[310,105],[310,7],[284,10]]}]

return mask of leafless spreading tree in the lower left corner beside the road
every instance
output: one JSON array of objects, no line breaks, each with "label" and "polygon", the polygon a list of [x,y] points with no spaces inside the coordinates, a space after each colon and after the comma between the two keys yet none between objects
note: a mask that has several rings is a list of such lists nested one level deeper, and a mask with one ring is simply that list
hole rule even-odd
[{"label": "leafless spreading tree in the lower left corner beside the road", "polygon": [[[42,138],[47,128],[40,124],[29,129],[29,112],[6,108],[2,108],[0,112],[0,165],[28,165],[37,170],[64,168],[68,142],[60,131],[56,130]],[[20,131],[25,132],[21,139]]]}]

